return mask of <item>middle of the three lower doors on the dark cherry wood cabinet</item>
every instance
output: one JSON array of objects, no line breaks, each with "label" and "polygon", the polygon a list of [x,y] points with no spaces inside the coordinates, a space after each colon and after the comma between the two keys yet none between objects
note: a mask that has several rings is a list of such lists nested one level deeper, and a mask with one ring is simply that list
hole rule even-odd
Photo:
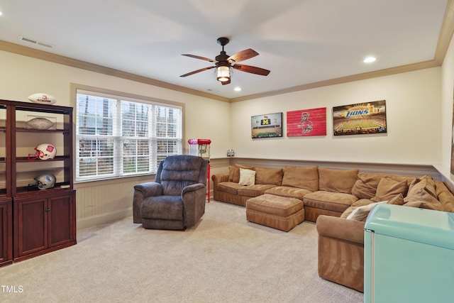
[{"label": "middle of the three lower doors on the dark cherry wood cabinet", "polygon": [[14,258],[43,250],[48,243],[48,199],[14,201]]}]

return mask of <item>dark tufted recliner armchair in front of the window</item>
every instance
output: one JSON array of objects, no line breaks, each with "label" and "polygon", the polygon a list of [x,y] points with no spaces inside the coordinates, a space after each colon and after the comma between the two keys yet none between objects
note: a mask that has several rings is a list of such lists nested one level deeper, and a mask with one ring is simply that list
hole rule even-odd
[{"label": "dark tufted recliner armchair in front of the window", "polygon": [[153,229],[195,226],[205,213],[208,165],[194,155],[162,160],[155,182],[134,186],[133,222]]}]

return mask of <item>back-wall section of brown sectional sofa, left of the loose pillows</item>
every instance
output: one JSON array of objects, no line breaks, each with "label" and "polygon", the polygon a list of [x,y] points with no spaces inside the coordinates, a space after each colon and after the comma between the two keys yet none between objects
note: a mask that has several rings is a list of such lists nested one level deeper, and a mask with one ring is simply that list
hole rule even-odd
[{"label": "back-wall section of brown sectional sofa, left of the loose pillows", "polygon": [[[240,169],[254,170],[255,183],[242,185]],[[303,201],[305,220],[315,222],[321,214],[341,216],[358,198],[351,194],[358,170],[331,170],[323,167],[282,168],[231,165],[229,172],[211,177],[214,199],[245,206],[246,201],[262,194],[297,198]]]}]

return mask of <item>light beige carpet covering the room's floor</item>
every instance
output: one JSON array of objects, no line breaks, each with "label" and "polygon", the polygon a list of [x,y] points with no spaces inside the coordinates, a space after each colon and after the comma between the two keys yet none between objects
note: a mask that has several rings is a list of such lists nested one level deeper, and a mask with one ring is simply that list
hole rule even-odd
[{"label": "light beige carpet covering the room's floor", "polygon": [[246,221],[244,207],[216,201],[187,231],[147,230],[132,221],[84,228],[76,246],[0,268],[0,302],[363,300],[361,292],[319,277],[311,222],[286,233]]}]

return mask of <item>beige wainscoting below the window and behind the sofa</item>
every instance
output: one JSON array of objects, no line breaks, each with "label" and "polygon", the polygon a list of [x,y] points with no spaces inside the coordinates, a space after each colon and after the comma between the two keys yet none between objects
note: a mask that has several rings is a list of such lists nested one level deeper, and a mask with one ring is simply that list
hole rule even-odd
[{"label": "beige wainscoting below the window and behind the sofa", "polygon": [[[312,162],[302,160],[275,160],[257,158],[217,158],[211,159],[210,167],[210,196],[213,197],[213,182],[211,176],[228,172],[228,165],[239,163],[253,167],[284,167],[314,166],[337,170],[358,168],[360,172],[387,173],[405,176],[429,175],[435,180],[448,181],[432,165],[400,165],[382,163],[350,163],[350,162]],[[77,228],[85,228],[99,224],[109,224],[113,221],[132,216],[134,185],[155,180],[155,175],[131,177],[118,180],[104,180],[75,184],[77,189]],[[448,186],[451,190],[452,186]],[[132,223],[132,219],[131,219]]]}]

